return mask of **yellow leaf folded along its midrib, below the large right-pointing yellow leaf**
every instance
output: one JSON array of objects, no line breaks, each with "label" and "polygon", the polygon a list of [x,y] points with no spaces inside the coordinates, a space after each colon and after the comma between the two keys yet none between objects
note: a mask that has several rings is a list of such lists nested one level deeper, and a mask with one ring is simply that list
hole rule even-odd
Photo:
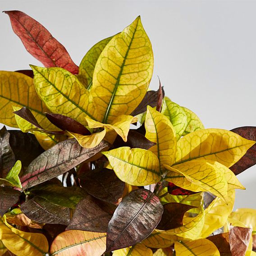
[{"label": "yellow leaf folded along its midrib, below the large right-pointing yellow leaf", "polygon": [[216,161],[203,159],[175,165],[175,169],[165,165],[165,168],[170,170],[165,179],[178,187],[194,192],[208,191],[227,201],[228,183],[224,173],[217,166]]}]

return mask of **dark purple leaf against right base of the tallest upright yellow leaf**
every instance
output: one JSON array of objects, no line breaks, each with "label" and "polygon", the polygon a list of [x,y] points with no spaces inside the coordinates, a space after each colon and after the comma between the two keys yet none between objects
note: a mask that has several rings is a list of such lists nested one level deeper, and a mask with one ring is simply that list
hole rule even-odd
[{"label": "dark purple leaf against right base of the tallest upright yellow leaf", "polygon": [[[152,108],[157,105],[159,90],[157,91],[147,91],[145,97],[141,101],[141,103],[137,106],[135,110],[131,113],[131,115],[135,116],[137,114],[141,114],[146,111],[146,106],[150,105]],[[164,88],[162,88],[162,97],[165,97]]]}]

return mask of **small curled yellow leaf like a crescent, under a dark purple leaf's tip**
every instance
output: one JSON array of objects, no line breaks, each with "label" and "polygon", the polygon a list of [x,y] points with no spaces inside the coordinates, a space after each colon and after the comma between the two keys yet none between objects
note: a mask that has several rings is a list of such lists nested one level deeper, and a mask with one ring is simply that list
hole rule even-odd
[{"label": "small curled yellow leaf like a crescent, under a dark purple leaf's tip", "polygon": [[72,137],[74,137],[80,146],[85,148],[92,148],[100,144],[106,134],[106,129],[99,133],[92,133],[91,135],[81,135],[78,133],[71,133],[67,131]]}]

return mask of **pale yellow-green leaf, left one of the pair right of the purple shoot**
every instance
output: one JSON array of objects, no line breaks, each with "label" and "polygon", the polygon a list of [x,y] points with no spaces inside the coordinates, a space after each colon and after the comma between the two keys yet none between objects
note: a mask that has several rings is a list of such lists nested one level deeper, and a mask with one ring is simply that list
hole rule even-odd
[{"label": "pale yellow-green leaf, left one of the pair right of the purple shoot", "polygon": [[187,127],[187,114],[183,107],[165,97],[161,113],[171,121],[178,141]]}]

